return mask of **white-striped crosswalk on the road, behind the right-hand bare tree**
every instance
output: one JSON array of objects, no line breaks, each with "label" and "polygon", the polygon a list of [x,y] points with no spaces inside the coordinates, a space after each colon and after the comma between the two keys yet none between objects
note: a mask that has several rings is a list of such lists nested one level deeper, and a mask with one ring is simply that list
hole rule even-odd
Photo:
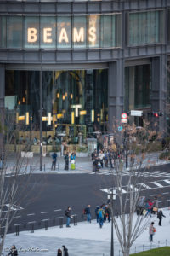
[{"label": "white-striped crosswalk on the road, behind the right-hand bare tree", "polygon": [[[169,187],[170,187],[170,179],[162,179],[159,181],[152,181],[149,183],[139,183],[137,188],[134,187],[134,190],[138,192],[139,188],[140,188],[140,191],[144,191],[144,190],[153,190],[153,189],[164,189]],[[131,185],[131,188],[133,188],[132,185]],[[100,189],[100,190],[105,193],[108,193],[108,188]],[[116,188],[116,191],[122,191],[122,194],[127,194],[127,185]],[[169,193],[170,191],[166,192],[166,194],[169,194]]]}]

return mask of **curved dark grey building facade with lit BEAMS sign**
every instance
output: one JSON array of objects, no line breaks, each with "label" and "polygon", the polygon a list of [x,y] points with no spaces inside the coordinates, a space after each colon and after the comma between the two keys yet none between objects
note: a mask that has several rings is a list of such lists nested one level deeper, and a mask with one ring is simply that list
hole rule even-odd
[{"label": "curved dark grey building facade with lit BEAMS sign", "polygon": [[169,20],[168,0],[0,1],[0,108],[18,143],[42,130],[74,144],[130,110],[161,112],[165,127]]}]

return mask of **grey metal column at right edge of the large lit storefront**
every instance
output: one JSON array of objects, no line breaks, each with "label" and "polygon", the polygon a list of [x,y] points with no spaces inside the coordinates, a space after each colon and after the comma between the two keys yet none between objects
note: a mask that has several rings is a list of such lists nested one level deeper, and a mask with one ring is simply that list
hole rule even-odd
[{"label": "grey metal column at right edge of the large lit storefront", "polygon": [[113,131],[115,122],[121,120],[124,93],[124,61],[122,59],[109,63],[108,78],[108,114],[109,132]]}]

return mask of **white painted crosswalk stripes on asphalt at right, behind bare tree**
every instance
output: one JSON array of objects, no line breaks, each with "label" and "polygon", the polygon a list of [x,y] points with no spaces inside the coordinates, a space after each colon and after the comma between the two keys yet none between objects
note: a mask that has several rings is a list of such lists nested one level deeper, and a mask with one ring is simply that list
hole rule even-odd
[{"label": "white painted crosswalk stripes on asphalt at right, behind bare tree", "polygon": [[[148,184],[145,184],[145,183],[139,183],[139,185],[141,187],[143,187],[144,189],[141,189],[141,190],[145,190],[145,189],[162,189],[162,188],[167,188],[167,187],[170,187],[170,180],[167,180],[167,179],[164,179],[164,180],[161,180],[159,182],[165,182],[167,183],[165,186],[161,185],[161,183],[158,183],[158,182],[150,182],[150,186]],[[152,185],[155,185],[154,187],[152,187]],[[130,185],[131,189],[133,189],[133,185]],[[117,190],[120,190],[122,188],[116,188]],[[122,189],[122,194],[126,194],[127,193],[127,186],[123,186],[123,189]],[[101,191],[105,192],[105,193],[108,193],[108,189],[100,189]],[[136,192],[139,191],[138,188],[134,188],[134,190]],[[164,194],[168,194],[169,192],[165,192]]]}]

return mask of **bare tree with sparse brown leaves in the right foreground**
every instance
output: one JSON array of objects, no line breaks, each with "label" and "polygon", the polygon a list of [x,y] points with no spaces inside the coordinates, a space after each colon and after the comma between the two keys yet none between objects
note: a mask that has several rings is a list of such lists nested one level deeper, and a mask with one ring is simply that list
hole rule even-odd
[{"label": "bare tree with sparse brown leaves in the right foreground", "polygon": [[[109,192],[113,193],[116,189],[116,207],[118,205],[120,212],[120,220],[114,214],[114,208],[111,203],[111,216],[116,230],[120,247],[122,248],[123,256],[128,256],[133,242],[144,232],[148,227],[150,219],[145,218],[143,211],[136,217],[136,209],[139,203],[139,197],[145,193],[147,189],[146,177],[150,176],[150,160],[146,158],[148,148],[154,146],[154,143],[161,138],[161,133],[150,131],[150,124],[145,122],[144,128],[138,129],[135,125],[124,125],[119,141],[119,146],[116,148],[118,157],[114,159],[113,175],[110,180]],[[114,131],[117,127],[114,127]],[[155,129],[156,130],[156,129]],[[116,137],[118,137],[116,135]],[[155,138],[153,140],[153,138]],[[120,144],[122,144],[120,146]],[[123,166],[128,153],[129,168],[125,179],[123,179]],[[152,166],[154,161],[152,162]],[[127,187],[125,193],[124,187]],[[120,225],[121,222],[121,225]]]}]

